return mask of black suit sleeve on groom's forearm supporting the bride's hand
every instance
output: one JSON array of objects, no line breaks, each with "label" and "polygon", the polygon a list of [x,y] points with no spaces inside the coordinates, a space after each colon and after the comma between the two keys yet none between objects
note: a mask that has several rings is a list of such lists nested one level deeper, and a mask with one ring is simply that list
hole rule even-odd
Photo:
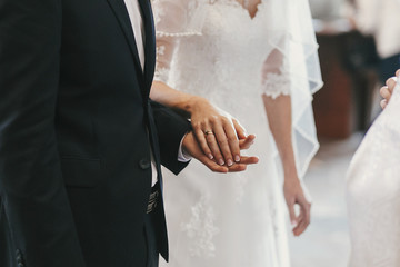
[{"label": "black suit sleeve on groom's forearm supporting the bride's hand", "polygon": [[178,161],[181,140],[191,130],[190,122],[171,109],[151,101],[158,139],[160,141],[161,164],[178,175],[188,162]]}]

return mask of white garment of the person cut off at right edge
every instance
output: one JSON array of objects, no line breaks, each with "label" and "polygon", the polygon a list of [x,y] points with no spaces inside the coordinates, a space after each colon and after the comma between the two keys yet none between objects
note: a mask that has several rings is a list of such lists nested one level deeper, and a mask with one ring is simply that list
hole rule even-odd
[{"label": "white garment of the person cut off at right edge", "polygon": [[349,267],[400,266],[400,89],[369,129],[348,171]]}]

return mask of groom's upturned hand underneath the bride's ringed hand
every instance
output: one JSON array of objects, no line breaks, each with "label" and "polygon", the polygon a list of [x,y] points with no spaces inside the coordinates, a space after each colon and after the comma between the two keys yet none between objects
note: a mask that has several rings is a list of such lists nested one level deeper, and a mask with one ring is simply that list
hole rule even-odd
[{"label": "groom's upturned hand underneath the bride's ringed hand", "polygon": [[[241,147],[244,149],[249,144],[253,141],[253,138],[250,137],[246,140],[246,142],[241,144]],[[210,170],[214,172],[234,172],[234,171],[243,171],[246,170],[248,165],[257,164],[258,158],[257,157],[246,157],[240,156],[240,162],[233,164],[232,166],[227,165],[219,165],[214,159],[210,159],[204,155],[204,152],[201,150],[199,142],[196,140],[193,132],[189,132],[182,142],[182,148],[184,149],[184,152],[190,155],[191,157],[196,158],[203,165],[206,165]]]}]

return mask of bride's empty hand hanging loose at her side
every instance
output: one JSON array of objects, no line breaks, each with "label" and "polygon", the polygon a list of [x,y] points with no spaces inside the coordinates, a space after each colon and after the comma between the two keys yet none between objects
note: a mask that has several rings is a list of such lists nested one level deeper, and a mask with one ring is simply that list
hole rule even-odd
[{"label": "bride's empty hand hanging loose at her side", "polygon": [[[284,178],[283,194],[293,227],[292,231],[294,236],[300,236],[310,225],[311,202],[307,200],[297,175]],[[296,205],[300,206],[298,215],[296,215],[294,210]]]}]

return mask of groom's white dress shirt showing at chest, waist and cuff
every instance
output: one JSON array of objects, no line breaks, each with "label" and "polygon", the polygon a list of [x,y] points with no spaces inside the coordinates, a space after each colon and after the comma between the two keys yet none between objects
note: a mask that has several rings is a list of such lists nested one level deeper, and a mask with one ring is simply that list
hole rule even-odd
[{"label": "groom's white dress shirt showing at chest, waist and cuff", "polygon": [[[136,44],[138,48],[140,65],[142,67],[142,71],[144,70],[144,43],[146,43],[146,34],[144,34],[144,27],[143,27],[143,18],[141,13],[141,9],[139,6],[138,0],[124,0],[126,7],[128,9],[129,18],[133,28],[133,34]],[[184,137],[183,137],[184,138]],[[182,138],[182,141],[183,141]],[[178,160],[181,162],[188,162],[191,158],[188,155],[184,155],[182,151],[182,141],[180,144],[179,150],[178,150]],[[153,154],[150,149],[151,154],[151,171],[152,171],[152,182],[151,185],[154,186],[158,177],[157,177],[157,167]]]}]

